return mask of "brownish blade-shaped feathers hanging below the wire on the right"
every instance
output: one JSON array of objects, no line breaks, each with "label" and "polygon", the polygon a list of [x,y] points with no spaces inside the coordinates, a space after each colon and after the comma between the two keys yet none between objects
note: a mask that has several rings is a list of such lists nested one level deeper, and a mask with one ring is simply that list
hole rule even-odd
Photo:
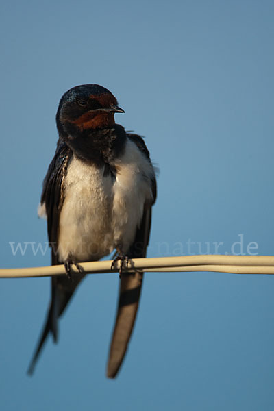
[{"label": "brownish blade-shaped feathers hanging below the wire on the right", "polygon": [[127,351],[138,310],[142,277],[139,271],[121,274],[119,304],[108,358],[108,378],[116,377]]}]

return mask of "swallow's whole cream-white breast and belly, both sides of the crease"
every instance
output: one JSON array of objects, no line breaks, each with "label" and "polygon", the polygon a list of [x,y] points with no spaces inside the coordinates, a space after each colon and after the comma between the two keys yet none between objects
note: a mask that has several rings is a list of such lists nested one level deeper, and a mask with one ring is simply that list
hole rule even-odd
[{"label": "swallow's whole cream-white breast and belly, both sides of the crease", "polygon": [[126,253],[134,242],[146,201],[152,201],[153,167],[134,142],[112,164],[116,179],[75,155],[65,179],[58,255],[79,262],[98,260],[113,249]]}]

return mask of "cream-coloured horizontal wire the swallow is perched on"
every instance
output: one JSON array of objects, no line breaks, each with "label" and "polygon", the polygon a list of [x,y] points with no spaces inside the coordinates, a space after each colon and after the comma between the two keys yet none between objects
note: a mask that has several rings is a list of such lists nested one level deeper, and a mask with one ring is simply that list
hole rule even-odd
[{"label": "cream-coloured horizontal wire the swallow is perched on", "polygon": [[[86,274],[116,273],[119,262],[111,269],[112,261],[80,263]],[[214,271],[235,274],[274,274],[274,256],[180,256],[134,258],[124,271],[138,269],[146,272]],[[1,278],[48,277],[64,275],[64,264],[23,269],[0,269]]]}]

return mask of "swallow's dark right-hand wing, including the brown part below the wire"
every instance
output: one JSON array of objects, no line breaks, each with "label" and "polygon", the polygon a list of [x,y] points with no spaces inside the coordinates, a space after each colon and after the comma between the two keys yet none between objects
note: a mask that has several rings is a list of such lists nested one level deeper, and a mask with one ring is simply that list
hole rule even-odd
[{"label": "swallow's dark right-hand wing, including the brown part below the wire", "polygon": [[[127,136],[137,145],[140,151],[145,154],[147,160],[151,162],[149,151],[142,137],[137,134],[127,134]],[[151,191],[153,194],[153,202],[145,204],[142,223],[136,231],[134,242],[128,252],[129,258],[142,258],[145,257],[147,253],[151,227],[151,206],[155,203],[157,192],[155,175],[151,178]],[[132,335],[138,310],[142,277],[143,273],[140,273],[140,271],[135,271],[132,274],[122,273],[121,275],[119,303],[108,358],[107,375],[109,378],[116,377],[127,351],[127,345]]]}]

